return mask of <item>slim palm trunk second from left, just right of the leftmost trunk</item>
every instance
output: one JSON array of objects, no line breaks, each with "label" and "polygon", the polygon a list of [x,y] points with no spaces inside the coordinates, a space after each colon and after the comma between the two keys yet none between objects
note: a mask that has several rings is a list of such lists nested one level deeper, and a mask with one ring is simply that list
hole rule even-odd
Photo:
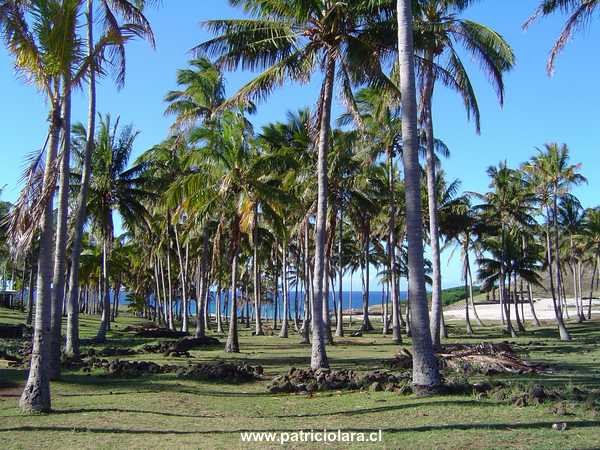
[{"label": "slim palm trunk second from left, just right of the leftmost trunk", "polygon": [[62,309],[65,298],[65,270],[67,259],[67,230],[69,217],[69,178],[71,175],[71,83],[68,76],[63,84],[63,149],[60,158],[60,183],[58,188],[56,239],[54,249],[54,274],[52,278],[52,325],[50,331],[49,377],[60,377],[60,351],[62,344]]}]

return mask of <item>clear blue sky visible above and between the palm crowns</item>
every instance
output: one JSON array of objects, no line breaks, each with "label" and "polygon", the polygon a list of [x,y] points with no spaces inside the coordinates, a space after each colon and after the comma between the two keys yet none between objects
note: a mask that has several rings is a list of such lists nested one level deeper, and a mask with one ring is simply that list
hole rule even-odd
[{"label": "clear blue sky visible above and between the palm crowns", "polygon": [[[506,159],[518,165],[545,142],[566,142],[573,162],[582,163],[587,186],[575,194],[586,207],[596,206],[596,183],[600,182],[600,73],[598,42],[600,27],[579,34],[558,60],[554,77],[545,72],[552,43],[560,32],[564,18],[545,19],[529,31],[521,24],[535,9],[538,0],[482,0],[464,13],[464,17],[493,27],[512,45],[515,69],[506,76],[504,108],[498,105],[486,77],[476,62],[469,62],[479,99],[482,131],[475,134],[467,122],[461,100],[452,92],[440,89],[434,104],[435,132],[444,140],[452,155],[444,161],[450,178],[462,180],[464,190],[485,191],[488,179],[485,169]],[[157,49],[142,42],[133,43],[127,55],[127,84],[117,91],[110,79],[101,82],[98,110],[120,115],[122,122],[133,123],[141,134],[137,140],[139,154],[160,142],[167,134],[170,118],[163,116],[165,93],[175,87],[175,72],[191,58],[189,50],[209,38],[199,26],[202,20],[236,17],[240,12],[225,0],[168,0],[158,11],[150,11],[157,38]],[[227,75],[232,93],[250,74]],[[286,86],[259,105],[252,118],[255,125],[281,120],[288,110],[313,106],[318,95],[318,77],[307,86]],[[85,120],[85,96],[74,101],[74,119]],[[336,110],[341,110],[340,102]],[[18,195],[18,180],[27,153],[39,148],[46,134],[47,105],[35,90],[15,76],[12,61],[0,48],[0,187],[6,185],[3,200]],[[457,261],[442,256],[443,284],[460,282]],[[355,286],[358,285],[356,278]]]}]

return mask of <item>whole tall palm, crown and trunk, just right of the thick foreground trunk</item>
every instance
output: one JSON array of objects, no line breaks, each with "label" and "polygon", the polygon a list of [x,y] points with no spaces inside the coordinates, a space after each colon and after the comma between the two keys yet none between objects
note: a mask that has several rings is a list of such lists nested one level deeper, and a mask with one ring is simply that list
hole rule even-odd
[{"label": "whole tall palm, crown and trunk, just right of the thick foreground trunk", "polygon": [[479,107],[467,70],[457,47],[462,45],[480,63],[483,71],[498,93],[500,104],[504,100],[503,73],[514,65],[514,54],[508,43],[494,30],[479,23],[462,19],[462,13],[472,2],[457,0],[425,0],[417,11],[417,49],[421,58],[421,117],[425,132],[427,155],[427,195],[429,198],[429,233],[433,262],[433,287],[431,300],[431,336],[434,346],[440,345],[442,324],[441,266],[439,246],[439,218],[437,214],[433,133],[433,95],[436,81],[457,91],[463,98],[467,116],[473,114],[479,132]]}]

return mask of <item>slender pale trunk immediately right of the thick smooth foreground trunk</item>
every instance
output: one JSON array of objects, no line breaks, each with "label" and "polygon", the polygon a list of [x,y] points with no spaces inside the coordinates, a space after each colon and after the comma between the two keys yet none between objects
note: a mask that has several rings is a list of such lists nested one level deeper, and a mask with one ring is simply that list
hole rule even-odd
[{"label": "slender pale trunk immediately right of the thick smooth foreground trunk", "polygon": [[[423,95],[423,122],[425,125],[425,139],[427,150],[427,198],[429,208],[429,238],[431,241],[431,262],[433,269],[431,291],[431,339],[434,348],[440,347],[440,332],[445,334],[442,319],[442,273],[440,264],[440,239],[437,213],[437,193],[435,174],[435,153],[433,136],[432,97],[434,88],[433,54],[427,52],[425,68],[425,89]],[[444,330],[442,330],[442,327]]]}]

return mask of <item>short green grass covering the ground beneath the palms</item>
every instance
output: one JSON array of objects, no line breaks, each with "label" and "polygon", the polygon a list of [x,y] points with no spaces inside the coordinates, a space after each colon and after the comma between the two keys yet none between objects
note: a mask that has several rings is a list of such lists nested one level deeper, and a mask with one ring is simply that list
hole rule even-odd
[{"label": "short green grass covering the ground beneath the palms", "polygon": [[[0,323],[19,323],[19,313],[0,308]],[[138,346],[146,342],[120,332],[136,319],[120,317],[109,345]],[[81,321],[83,337],[94,335],[95,318]],[[528,359],[560,365],[551,375],[515,376],[521,383],[600,388],[600,323],[570,325],[574,340],[561,343],[551,328],[533,329],[516,342]],[[309,348],[294,336],[253,337],[243,326],[239,355],[220,347],[193,351],[193,361],[238,359],[261,364],[266,375],[307,366]],[[449,342],[501,341],[498,328],[477,330],[467,339],[451,329]],[[222,339],[224,341],[224,339]],[[333,368],[381,368],[397,347],[374,333],[338,339],[328,347]],[[187,360],[162,355],[136,355],[157,362]],[[383,431],[383,442],[371,448],[590,448],[600,446],[598,404],[569,403],[569,415],[557,416],[552,404],[515,407],[506,401],[474,396],[418,399],[388,392],[332,392],[314,396],[272,395],[268,381],[241,385],[196,382],[173,375],[114,379],[98,373],[66,372],[52,384],[50,415],[25,416],[16,408],[25,373],[6,368],[0,360],[0,448],[278,448],[279,444],[242,443],[240,432],[292,430]],[[498,378],[498,377],[495,377]],[[502,377],[501,377],[502,378]],[[506,378],[506,377],[504,377]],[[10,383],[14,383],[10,387]],[[552,424],[567,422],[566,431]],[[305,444],[303,448],[314,448]],[[291,447],[291,445],[290,445]],[[296,447],[302,447],[296,444]],[[365,448],[339,444],[334,448]]]}]

